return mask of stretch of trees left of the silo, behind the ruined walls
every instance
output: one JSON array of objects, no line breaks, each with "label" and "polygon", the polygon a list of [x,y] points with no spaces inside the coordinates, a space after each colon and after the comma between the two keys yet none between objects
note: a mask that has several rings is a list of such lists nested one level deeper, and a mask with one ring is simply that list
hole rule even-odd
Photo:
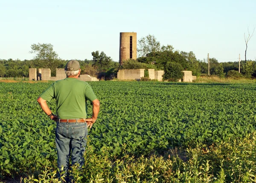
[{"label": "stretch of trees left of the silo, behind the ruined walls", "polygon": [[[68,60],[60,59],[51,44],[33,44],[31,51],[35,56],[31,60],[0,59],[0,77],[29,77],[29,68],[49,68],[51,76],[56,76],[56,68],[65,68]],[[111,79],[116,73],[119,63],[114,62],[103,51],[93,51],[92,59],[78,60],[81,74]]]}]

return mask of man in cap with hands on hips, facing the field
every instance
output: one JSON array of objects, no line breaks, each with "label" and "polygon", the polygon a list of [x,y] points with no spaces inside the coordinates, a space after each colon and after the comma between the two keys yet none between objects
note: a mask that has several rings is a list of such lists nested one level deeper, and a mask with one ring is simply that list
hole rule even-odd
[{"label": "man in cap with hands on hips, facing the field", "polygon": [[[64,175],[69,169],[70,153],[72,165],[77,163],[81,167],[84,164],[87,127],[92,127],[99,113],[99,100],[90,85],[78,79],[80,72],[79,62],[70,60],[65,68],[67,78],[54,82],[37,99],[49,118],[57,122],[55,131],[57,163],[59,173]],[[47,105],[47,101],[51,99],[56,99],[56,115]],[[93,104],[91,118],[87,118],[87,99]],[[62,167],[64,172],[61,172]]]}]

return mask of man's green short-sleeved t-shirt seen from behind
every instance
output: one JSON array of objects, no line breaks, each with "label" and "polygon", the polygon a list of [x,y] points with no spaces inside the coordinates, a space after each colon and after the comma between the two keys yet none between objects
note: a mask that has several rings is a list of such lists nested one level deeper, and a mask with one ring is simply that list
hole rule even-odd
[{"label": "man's green short-sleeved t-shirt seen from behind", "polygon": [[56,99],[56,115],[61,119],[87,118],[85,99],[97,99],[90,85],[76,78],[54,82],[41,98],[46,101]]}]

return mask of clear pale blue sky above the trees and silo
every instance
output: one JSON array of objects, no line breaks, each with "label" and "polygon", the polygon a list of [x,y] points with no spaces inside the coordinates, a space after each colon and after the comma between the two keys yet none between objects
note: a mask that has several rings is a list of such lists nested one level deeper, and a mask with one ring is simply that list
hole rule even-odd
[{"label": "clear pale blue sky above the trees and silo", "polygon": [[[119,33],[137,32],[197,59],[234,62],[244,60],[256,0],[0,0],[0,20],[0,59],[32,59],[32,44],[50,43],[61,59],[99,50],[118,62]],[[256,59],[256,31],[247,59]]]}]

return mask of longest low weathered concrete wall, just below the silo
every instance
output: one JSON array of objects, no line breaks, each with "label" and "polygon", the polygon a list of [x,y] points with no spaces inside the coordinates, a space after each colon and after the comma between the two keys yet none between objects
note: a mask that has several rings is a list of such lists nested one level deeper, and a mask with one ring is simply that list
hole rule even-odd
[{"label": "longest low weathered concrete wall, just below the silo", "polygon": [[145,69],[129,69],[129,70],[119,70],[117,73],[117,79],[125,80],[125,79],[136,79],[140,80],[140,78],[144,77]]}]

